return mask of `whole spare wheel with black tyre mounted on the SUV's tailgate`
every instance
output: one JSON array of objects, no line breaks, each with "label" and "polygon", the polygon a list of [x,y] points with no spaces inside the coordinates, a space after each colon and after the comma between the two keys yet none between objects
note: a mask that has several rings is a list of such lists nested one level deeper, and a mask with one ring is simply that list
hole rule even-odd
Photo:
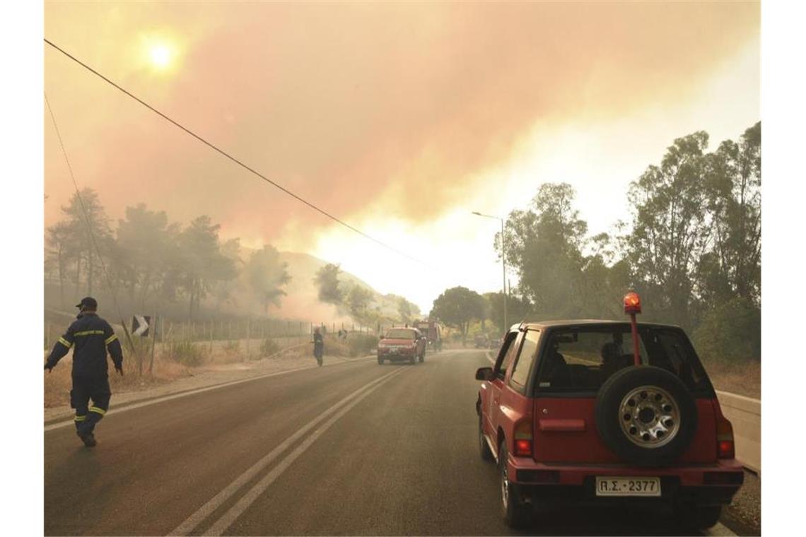
[{"label": "whole spare wheel with black tyre mounted on the SUV's tailgate", "polygon": [[683,382],[654,366],[617,371],[596,396],[596,428],[622,461],[669,465],[691,444],[697,407]]}]

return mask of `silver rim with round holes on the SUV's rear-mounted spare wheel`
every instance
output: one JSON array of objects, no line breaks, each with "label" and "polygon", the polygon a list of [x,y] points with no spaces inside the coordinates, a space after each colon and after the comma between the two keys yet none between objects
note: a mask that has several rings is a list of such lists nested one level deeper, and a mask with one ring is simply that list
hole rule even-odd
[{"label": "silver rim with round holes on the SUV's rear-mounted spare wheel", "polygon": [[638,386],[621,399],[618,407],[621,431],[633,444],[655,449],[668,444],[680,430],[680,410],[675,398],[658,386]]}]

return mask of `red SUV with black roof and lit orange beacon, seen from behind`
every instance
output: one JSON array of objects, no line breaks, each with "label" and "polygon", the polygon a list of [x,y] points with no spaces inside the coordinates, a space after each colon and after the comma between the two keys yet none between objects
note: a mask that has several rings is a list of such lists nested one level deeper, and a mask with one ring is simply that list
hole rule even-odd
[{"label": "red SUV with black roof and lit orange beacon, seen from behind", "polygon": [[481,458],[498,463],[512,527],[590,502],[667,504],[704,529],[742,485],[733,428],[681,328],[520,324],[476,378]]}]

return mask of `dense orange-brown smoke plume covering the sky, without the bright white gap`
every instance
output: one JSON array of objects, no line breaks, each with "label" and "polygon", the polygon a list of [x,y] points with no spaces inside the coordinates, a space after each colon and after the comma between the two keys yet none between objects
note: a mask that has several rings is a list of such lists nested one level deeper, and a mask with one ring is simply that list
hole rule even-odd
[{"label": "dense orange-brown smoke plume covering the sky, without the bright white gap", "polygon": [[[350,221],[433,220],[534,129],[679,100],[758,35],[735,2],[65,3],[48,39]],[[179,50],[168,72],[143,39]],[[244,242],[304,250],[330,223],[46,47],[46,91],[81,186]],[[72,190],[45,127],[47,224]],[[290,238],[289,238],[290,236]]]}]

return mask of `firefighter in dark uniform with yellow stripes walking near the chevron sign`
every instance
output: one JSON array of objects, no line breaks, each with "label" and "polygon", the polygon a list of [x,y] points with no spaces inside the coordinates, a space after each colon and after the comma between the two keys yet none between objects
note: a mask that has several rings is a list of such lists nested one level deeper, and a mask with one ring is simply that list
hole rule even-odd
[{"label": "firefighter in dark uniform with yellow stripes walking near the chevron sign", "polygon": [[[94,447],[97,442],[93,431],[109,410],[109,389],[106,350],[112,356],[114,369],[123,375],[123,350],[118,337],[106,320],[98,316],[98,301],[91,296],[81,299],[77,320],[70,324],[59,338],[45,362],[48,373],[56,367],[73,345],[73,390],[70,390],[70,407],[76,409],[76,433],[84,445]],[[92,405],[89,400],[92,399]]]}]

